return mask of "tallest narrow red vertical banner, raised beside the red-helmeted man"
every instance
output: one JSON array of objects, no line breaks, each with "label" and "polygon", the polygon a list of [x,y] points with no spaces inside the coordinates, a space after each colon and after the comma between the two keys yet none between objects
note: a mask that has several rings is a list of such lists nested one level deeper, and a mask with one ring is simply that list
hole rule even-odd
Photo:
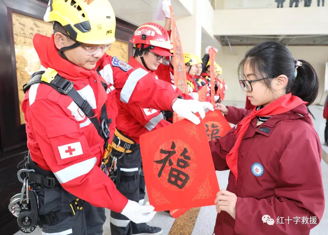
[{"label": "tallest narrow red vertical banner, raised beside the red-helmeted man", "polygon": [[[171,10],[171,29],[172,29],[172,42],[173,42],[173,58],[172,64],[174,68],[174,85],[179,88],[183,93],[188,94],[187,87],[187,76],[186,76],[186,66],[184,64],[183,59],[183,51],[180,40],[180,35],[178,28],[175,23],[174,13],[172,6],[170,6]],[[173,114],[173,122],[177,122],[183,118],[179,117],[176,113]]]}]

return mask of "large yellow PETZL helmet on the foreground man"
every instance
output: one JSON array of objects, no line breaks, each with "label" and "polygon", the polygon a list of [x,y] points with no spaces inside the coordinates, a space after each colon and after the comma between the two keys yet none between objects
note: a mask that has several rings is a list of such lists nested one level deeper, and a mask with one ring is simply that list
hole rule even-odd
[{"label": "large yellow PETZL helmet on the foreground man", "polygon": [[81,43],[115,41],[116,19],[108,0],[50,0],[44,21],[57,21],[69,36]]}]

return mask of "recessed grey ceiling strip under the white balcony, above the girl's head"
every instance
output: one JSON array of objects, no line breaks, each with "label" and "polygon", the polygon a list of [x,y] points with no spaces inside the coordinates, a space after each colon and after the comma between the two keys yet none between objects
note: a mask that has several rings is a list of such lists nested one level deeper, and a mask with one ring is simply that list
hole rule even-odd
[{"label": "recessed grey ceiling strip under the white balcony, above the girl's head", "polygon": [[236,35],[215,36],[222,46],[253,46],[266,41],[280,42],[286,46],[327,46],[328,35]]}]

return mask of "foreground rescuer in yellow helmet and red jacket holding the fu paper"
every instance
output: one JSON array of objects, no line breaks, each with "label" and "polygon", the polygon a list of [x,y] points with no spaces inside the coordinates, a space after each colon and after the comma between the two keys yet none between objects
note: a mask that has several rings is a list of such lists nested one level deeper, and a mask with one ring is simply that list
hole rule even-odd
[{"label": "foreground rescuer in yellow helmet and red jacket holding the fu paper", "polygon": [[53,21],[54,34],[36,34],[33,45],[46,71],[32,75],[22,102],[29,148],[24,165],[34,170],[25,173],[25,185],[37,193],[31,200],[39,198],[42,232],[101,235],[105,207],[135,223],[150,221],[154,207],[128,200],[104,173],[116,95],[127,104],[174,110],[195,124],[200,120],[193,111],[204,117],[205,106],[180,99],[171,84],[105,53],[116,27],[108,0],[50,0],[44,20]]}]

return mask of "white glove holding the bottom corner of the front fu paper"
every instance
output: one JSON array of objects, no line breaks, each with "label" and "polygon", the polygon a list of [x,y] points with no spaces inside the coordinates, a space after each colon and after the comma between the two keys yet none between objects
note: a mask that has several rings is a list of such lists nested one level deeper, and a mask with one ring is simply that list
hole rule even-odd
[{"label": "white glove holding the bottom corner of the front fu paper", "polygon": [[156,214],[154,209],[154,206],[150,206],[148,202],[145,206],[141,206],[137,202],[128,200],[128,204],[124,207],[121,214],[136,224],[147,223],[154,218]]}]

